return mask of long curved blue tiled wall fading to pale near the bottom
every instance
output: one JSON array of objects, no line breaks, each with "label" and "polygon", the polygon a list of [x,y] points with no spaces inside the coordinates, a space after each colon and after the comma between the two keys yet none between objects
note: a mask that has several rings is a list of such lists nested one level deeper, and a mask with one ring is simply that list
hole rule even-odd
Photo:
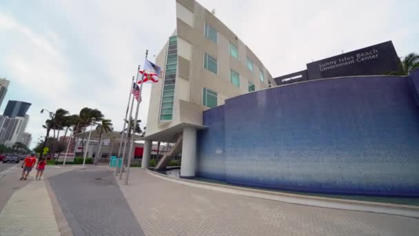
[{"label": "long curved blue tiled wall fading to pale near the bottom", "polygon": [[204,112],[198,175],[287,190],[419,196],[418,82],[419,71],[345,77],[228,99]]}]

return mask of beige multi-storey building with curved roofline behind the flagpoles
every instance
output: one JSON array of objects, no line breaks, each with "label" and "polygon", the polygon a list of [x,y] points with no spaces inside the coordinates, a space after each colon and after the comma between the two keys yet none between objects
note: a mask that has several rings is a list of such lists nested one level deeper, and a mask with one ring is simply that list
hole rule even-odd
[{"label": "beige multi-storey building with curved roofline behind the flagpoles", "polygon": [[176,30],[156,64],[165,75],[152,85],[143,166],[148,165],[152,141],[182,141],[183,177],[195,175],[196,131],[205,128],[203,111],[275,85],[252,50],[193,0],[176,1]]}]

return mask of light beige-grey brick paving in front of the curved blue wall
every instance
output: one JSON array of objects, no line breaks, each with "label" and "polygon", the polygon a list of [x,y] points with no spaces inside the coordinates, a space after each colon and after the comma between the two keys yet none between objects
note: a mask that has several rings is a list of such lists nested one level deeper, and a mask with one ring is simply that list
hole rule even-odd
[{"label": "light beige-grey brick paving in front of the curved blue wall", "polygon": [[134,169],[121,190],[145,235],[419,235],[419,220],[245,197]]}]

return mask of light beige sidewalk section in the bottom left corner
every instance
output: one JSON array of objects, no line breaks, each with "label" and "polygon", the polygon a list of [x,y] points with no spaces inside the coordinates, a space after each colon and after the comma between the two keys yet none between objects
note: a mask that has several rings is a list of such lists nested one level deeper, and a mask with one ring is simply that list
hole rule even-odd
[{"label": "light beige sidewalk section in the bottom left corner", "polygon": [[44,181],[14,193],[0,213],[0,235],[60,235]]}]

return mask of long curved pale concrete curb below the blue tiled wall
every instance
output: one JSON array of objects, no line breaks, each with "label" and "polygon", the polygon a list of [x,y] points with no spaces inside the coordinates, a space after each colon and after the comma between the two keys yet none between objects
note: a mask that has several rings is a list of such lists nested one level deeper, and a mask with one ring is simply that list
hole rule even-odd
[{"label": "long curved pale concrete curb below the blue tiled wall", "polygon": [[205,188],[210,190],[216,190],[223,193],[232,193],[236,195],[243,195],[247,197],[256,197],[260,199],[267,199],[272,201],[282,201],[289,204],[298,204],[305,206],[318,206],[323,208],[334,208],[340,210],[356,210],[369,213],[383,213],[389,215],[400,215],[405,217],[416,217],[419,218],[419,206],[407,206],[399,204],[384,204],[369,201],[356,201],[346,199],[334,199],[327,197],[314,197],[314,196],[302,196],[294,195],[289,193],[277,193],[268,190],[256,190],[236,186],[225,186],[221,184],[205,183],[202,181],[190,180],[190,179],[178,179],[174,177],[168,177],[160,173],[155,173],[151,170],[147,170],[150,175],[155,177],[172,181],[178,184],[184,184],[187,186],[193,186],[196,188]]}]

